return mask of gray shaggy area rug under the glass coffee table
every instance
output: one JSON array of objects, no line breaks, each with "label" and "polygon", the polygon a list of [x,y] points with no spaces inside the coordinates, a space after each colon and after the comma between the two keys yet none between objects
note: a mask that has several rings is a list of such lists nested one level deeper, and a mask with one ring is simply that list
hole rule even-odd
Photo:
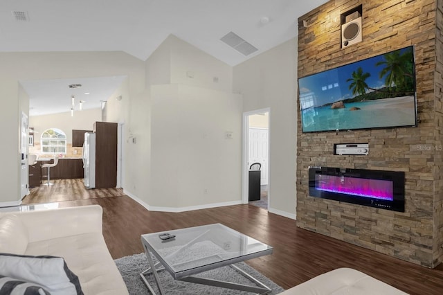
[{"label": "gray shaggy area rug under the glass coffee table", "polygon": [[[140,273],[148,268],[148,262],[145,253],[136,254],[133,256],[126,256],[114,261],[116,262],[120,274],[123,276],[123,280],[125,280],[129,294],[150,294],[149,289],[147,289],[145,283],[143,283],[143,280],[140,276]],[[155,262],[156,260],[154,259],[154,263]],[[272,280],[269,280],[269,278],[266,278],[266,276],[263,276],[262,274],[260,274],[260,272],[253,269],[253,267],[246,265],[246,263],[239,262],[235,265],[240,269],[246,271],[248,274],[251,274],[251,276],[253,276],[254,278],[257,278],[257,280],[260,280],[260,282],[264,283],[264,285],[271,288],[273,291],[270,294],[278,294],[284,290],[279,285],[273,283]],[[163,291],[168,295],[251,294],[249,292],[240,292],[237,290],[225,289],[221,287],[212,287],[195,283],[181,282],[178,280],[174,280],[172,276],[168,273],[168,271],[159,271],[159,276],[162,283]],[[244,278],[244,276],[239,274],[237,271],[235,271],[235,269],[231,267],[221,267],[219,269],[206,271],[199,274],[198,276],[214,278],[217,280],[226,280],[233,283],[241,283],[245,285],[254,285],[251,280]],[[154,291],[157,293],[158,289],[156,287],[154,276],[152,276],[151,274],[146,278]]]}]

